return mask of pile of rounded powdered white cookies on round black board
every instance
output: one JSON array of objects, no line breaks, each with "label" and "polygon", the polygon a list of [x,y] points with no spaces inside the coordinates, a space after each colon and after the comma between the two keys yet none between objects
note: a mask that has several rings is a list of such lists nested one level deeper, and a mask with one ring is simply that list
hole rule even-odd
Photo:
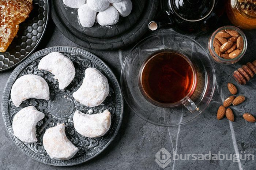
[{"label": "pile of rounded powdered white cookies on round black board", "polygon": [[83,27],[114,25],[119,16],[128,16],[132,11],[131,0],[63,0],[71,8],[78,8],[78,17]]}]

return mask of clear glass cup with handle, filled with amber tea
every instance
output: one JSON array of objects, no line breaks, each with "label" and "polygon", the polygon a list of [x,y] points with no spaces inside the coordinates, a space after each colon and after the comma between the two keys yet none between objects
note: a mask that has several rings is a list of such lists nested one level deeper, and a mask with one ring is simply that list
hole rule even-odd
[{"label": "clear glass cup with handle, filled with amber tea", "polygon": [[177,50],[158,50],[142,63],[138,75],[144,98],[159,107],[184,105],[189,112],[198,110],[190,99],[197,85],[193,63]]}]

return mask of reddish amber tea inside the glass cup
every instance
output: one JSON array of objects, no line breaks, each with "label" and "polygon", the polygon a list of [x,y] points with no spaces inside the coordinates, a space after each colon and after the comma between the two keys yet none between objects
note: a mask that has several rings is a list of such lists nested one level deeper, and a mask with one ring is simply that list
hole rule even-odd
[{"label": "reddish amber tea inside the glass cup", "polygon": [[141,73],[143,91],[159,103],[176,103],[195,87],[192,66],[185,56],[173,51],[153,54]]}]

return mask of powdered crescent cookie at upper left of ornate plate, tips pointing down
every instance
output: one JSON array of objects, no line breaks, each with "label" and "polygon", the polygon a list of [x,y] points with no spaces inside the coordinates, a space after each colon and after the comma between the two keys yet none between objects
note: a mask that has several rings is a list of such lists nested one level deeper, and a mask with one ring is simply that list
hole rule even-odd
[{"label": "powdered crescent cookie at upper left of ornate plate, tips pointing down", "polygon": [[50,99],[48,84],[40,76],[29,74],[18,78],[12,85],[11,99],[16,107],[27,99]]}]

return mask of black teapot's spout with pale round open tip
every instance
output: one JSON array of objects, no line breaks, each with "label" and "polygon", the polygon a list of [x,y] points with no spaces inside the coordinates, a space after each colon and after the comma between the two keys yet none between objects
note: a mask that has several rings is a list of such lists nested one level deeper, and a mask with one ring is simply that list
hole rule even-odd
[{"label": "black teapot's spout with pale round open tip", "polygon": [[148,23],[148,29],[150,31],[155,31],[160,28],[163,29],[170,29],[173,27],[173,22],[171,19],[171,15],[167,11],[160,12],[157,17],[155,17],[155,20]]}]

